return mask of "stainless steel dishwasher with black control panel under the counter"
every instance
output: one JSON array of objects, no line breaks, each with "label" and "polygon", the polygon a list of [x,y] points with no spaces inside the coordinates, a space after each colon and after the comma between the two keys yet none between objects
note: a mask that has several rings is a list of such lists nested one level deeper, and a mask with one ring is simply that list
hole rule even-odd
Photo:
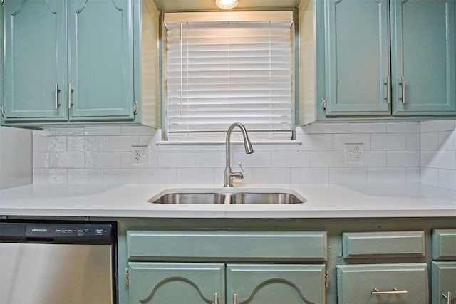
[{"label": "stainless steel dishwasher with black control panel under the counter", "polygon": [[0,222],[0,303],[115,303],[113,222]]}]

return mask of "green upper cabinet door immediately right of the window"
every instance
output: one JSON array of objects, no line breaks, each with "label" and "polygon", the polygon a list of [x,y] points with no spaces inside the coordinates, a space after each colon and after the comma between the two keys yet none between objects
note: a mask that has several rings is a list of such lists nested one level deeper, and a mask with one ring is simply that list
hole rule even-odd
[{"label": "green upper cabinet door immediately right of the window", "polygon": [[388,116],[388,0],[326,0],[326,116]]}]

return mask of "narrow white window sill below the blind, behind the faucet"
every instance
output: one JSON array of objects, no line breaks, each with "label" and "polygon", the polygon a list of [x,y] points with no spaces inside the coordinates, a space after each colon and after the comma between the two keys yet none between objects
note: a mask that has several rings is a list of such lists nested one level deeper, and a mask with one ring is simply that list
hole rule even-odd
[{"label": "narrow white window sill below the blind, behind the faucet", "polygon": [[[157,142],[160,152],[210,152],[224,151],[225,142]],[[302,145],[299,140],[252,140],[254,151],[298,151]],[[244,144],[240,141],[232,141],[233,151],[243,151]]]}]

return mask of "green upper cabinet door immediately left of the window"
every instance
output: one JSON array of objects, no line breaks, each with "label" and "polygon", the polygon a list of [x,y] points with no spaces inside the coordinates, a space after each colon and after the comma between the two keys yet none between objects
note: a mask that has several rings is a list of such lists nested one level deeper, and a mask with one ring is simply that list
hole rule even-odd
[{"label": "green upper cabinet door immediately left of the window", "polygon": [[68,1],[70,120],[133,120],[133,1]]}]

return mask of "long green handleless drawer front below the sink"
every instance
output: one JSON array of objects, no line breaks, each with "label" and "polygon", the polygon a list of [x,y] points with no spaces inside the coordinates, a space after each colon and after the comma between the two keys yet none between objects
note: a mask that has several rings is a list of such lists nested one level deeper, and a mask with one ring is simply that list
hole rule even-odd
[{"label": "long green handleless drawer front below the sink", "polygon": [[128,231],[130,261],[326,261],[325,231]]}]

